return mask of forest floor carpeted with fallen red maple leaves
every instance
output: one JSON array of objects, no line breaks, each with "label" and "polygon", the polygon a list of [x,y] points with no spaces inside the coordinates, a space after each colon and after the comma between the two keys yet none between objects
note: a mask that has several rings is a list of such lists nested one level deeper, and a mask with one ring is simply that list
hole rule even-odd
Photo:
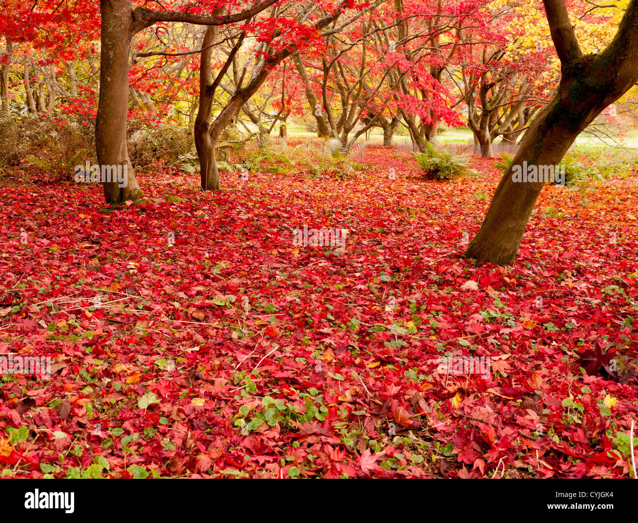
[{"label": "forest floor carpeted with fallen red maple leaves", "polygon": [[545,187],[498,267],[462,257],[494,160],[445,183],[364,163],[206,194],[147,169],[122,206],[2,186],[0,353],[53,363],[0,376],[0,476],[630,476],[636,172]]}]

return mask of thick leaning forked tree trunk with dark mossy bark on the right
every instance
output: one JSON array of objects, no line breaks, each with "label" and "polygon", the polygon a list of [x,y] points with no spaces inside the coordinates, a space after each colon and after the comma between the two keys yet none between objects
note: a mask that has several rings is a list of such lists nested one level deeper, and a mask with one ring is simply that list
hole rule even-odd
[{"label": "thick leaning forked tree trunk with dark mossy bark on the right", "polygon": [[584,55],[565,0],[543,0],[561,63],[553,100],[531,123],[512,165],[496,188],[486,218],[465,255],[511,264],[544,181],[516,183],[515,165],[558,165],[576,137],[638,80],[638,0],[631,0],[616,36],[597,54]]}]

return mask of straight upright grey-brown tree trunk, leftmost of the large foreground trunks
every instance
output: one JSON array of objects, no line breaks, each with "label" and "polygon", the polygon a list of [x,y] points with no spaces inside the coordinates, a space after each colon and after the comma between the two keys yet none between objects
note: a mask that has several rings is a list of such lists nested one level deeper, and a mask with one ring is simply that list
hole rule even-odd
[{"label": "straight upright grey-brown tree trunk, leftmost of the large foreground trunks", "polygon": [[98,165],[118,165],[125,171],[126,186],[117,180],[103,182],[107,203],[142,197],[126,147],[128,111],[128,70],[131,50],[132,16],[130,0],[100,0],[101,66],[100,100],[95,126]]}]

